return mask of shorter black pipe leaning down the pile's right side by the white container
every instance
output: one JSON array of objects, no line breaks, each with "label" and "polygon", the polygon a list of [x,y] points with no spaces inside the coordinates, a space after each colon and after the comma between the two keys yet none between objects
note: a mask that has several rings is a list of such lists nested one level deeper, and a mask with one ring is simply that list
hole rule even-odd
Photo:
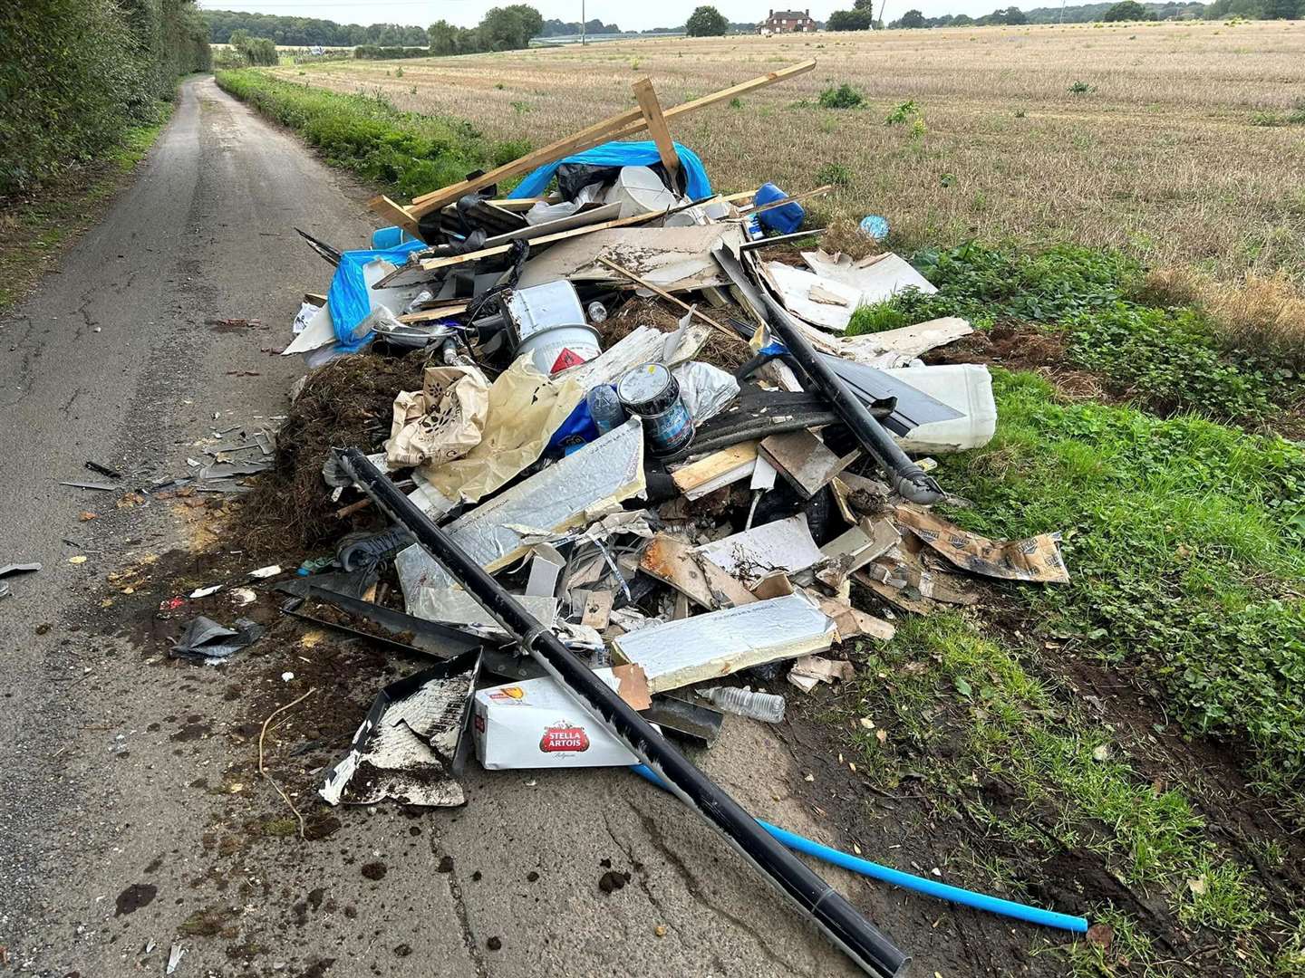
[{"label": "shorter black pipe leaning down the pile's right side by the white container", "polygon": [[937,480],[907,458],[898,443],[874,420],[874,416],[865,409],[861,399],[816,352],[806,336],[803,335],[801,329],[788,318],[788,312],[765,289],[761,291],[761,299],[769,313],[766,318],[779,334],[779,339],[788,347],[788,352],[793,355],[793,360],[803,368],[803,373],[829,398],[829,403],[843,419],[843,424],[851,429],[861,447],[870,452],[890,476],[893,488],[900,493],[902,498],[924,506],[942,502],[946,493],[942,492]]}]

